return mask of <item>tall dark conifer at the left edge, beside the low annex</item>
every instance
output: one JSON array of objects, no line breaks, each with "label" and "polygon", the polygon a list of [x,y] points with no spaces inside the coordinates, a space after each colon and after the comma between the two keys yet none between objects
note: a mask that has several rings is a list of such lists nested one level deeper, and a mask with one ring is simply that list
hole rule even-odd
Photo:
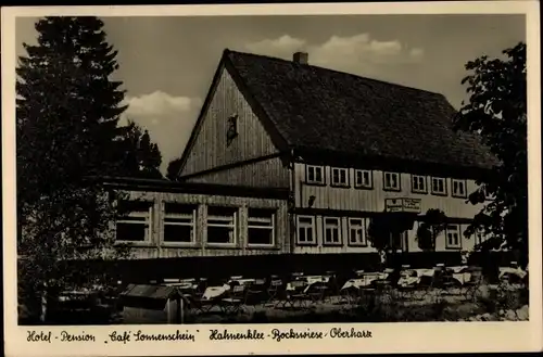
[{"label": "tall dark conifer at the left edge, beside the low annex", "polygon": [[17,282],[25,304],[96,278],[66,262],[126,254],[110,229],[121,193],[87,179],[123,166],[112,154],[126,109],[122,82],[110,79],[117,52],[97,17],[45,17],[35,27],[38,44],[24,43],[16,69]]}]

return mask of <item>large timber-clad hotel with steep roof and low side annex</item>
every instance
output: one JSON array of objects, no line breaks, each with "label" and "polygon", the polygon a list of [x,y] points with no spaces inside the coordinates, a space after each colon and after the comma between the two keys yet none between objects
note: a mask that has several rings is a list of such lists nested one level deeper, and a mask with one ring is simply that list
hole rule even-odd
[{"label": "large timber-clad hotel with steep roof and low side annex", "polygon": [[[307,53],[285,61],[225,50],[179,182],[111,181],[147,202],[117,237],[140,258],[361,262],[376,254],[374,217],[411,214],[391,237],[411,254],[421,251],[418,218],[438,208],[449,225],[435,251],[459,256],[478,240],[463,235],[480,209],[467,196],[495,161],[453,129],[454,115],[442,94],[313,66]],[[147,228],[136,233],[135,221]]]}]

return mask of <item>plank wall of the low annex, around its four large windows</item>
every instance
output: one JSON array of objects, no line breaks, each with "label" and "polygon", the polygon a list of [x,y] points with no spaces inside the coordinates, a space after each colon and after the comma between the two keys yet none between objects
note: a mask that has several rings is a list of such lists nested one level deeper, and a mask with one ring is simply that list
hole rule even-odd
[{"label": "plank wall of the low annex, around its four large windows", "polygon": [[[194,194],[186,192],[162,192],[160,190],[127,190],[129,202],[147,204],[149,213],[146,238],[135,241],[130,237],[119,235],[117,222],[117,241],[129,243],[132,246],[132,258],[175,258],[189,256],[237,256],[237,255],[267,255],[289,253],[288,209],[287,200],[272,197],[248,197],[217,194]],[[186,242],[165,240],[165,226],[167,220],[166,205],[178,204],[193,207],[191,222],[192,239]],[[233,217],[233,242],[212,243],[209,233],[207,218],[210,207],[231,208]],[[251,209],[266,209],[273,212],[272,244],[250,244],[248,240],[248,224]],[[137,213],[130,212],[128,216]],[[123,219],[119,219],[123,222]]]}]

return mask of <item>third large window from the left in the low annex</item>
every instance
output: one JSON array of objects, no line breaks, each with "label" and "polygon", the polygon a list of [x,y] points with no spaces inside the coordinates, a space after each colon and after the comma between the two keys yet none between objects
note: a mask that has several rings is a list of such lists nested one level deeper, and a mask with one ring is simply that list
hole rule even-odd
[{"label": "third large window from the left in the low annex", "polygon": [[233,207],[207,207],[207,243],[235,244],[237,214]]}]

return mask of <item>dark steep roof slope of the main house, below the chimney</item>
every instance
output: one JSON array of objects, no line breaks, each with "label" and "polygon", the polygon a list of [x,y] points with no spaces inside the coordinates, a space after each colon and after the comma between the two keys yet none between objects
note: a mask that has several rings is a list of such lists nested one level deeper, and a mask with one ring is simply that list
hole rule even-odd
[{"label": "dark steep roof slope of the main house, below the chimney", "polygon": [[496,163],[475,135],[453,129],[456,111],[442,94],[230,50],[225,60],[290,149],[466,168]]}]

